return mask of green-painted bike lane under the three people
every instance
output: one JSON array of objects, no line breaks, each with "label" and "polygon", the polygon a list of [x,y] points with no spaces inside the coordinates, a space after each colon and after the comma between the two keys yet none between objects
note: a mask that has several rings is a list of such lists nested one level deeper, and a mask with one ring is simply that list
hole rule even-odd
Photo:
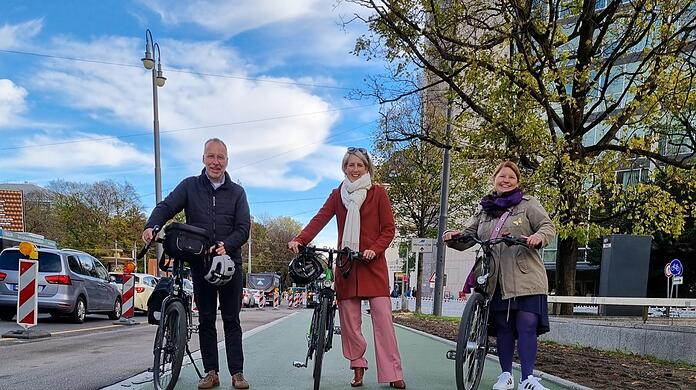
[{"label": "green-painted bike lane under the three people", "polygon": [[[307,368],[295,368],[293,361],[304,361],[307,352],[306,333],[311,320],[311,310],[298,310],[296,313],[276,320],[265,326],[244,334],[244,375],[252,389],[312,389],[313,361]],[[338,316],[337,316],[338,321]],[[363,333],[368,341],[366,358],[370,367],[365,372],[365,389],[388,389],[388,384],[378,384],[374,359],[371,319],[363,316]],[[433,338],[425,333],[397,326],[396,336],[401,352],[405,381],[409,389],[455,389],[454,361],[445,358],[454,344]],[[194,337],[197,337],[194,335]],[[220,366],[226,367],[224,343],[219,343]],[[200,355],[194,354],[196,364],[202,370]],[[177,381],[176,389],[195,389],[198,376],[193,366],[184,358],[184,366]],[[481,389],[490,389],[500,373],[498,363],[488,359],[484,367]],[[322,389],[351,389],[352,371],[348,361],[341,353],[341,336],[335,335],[333,348],[324,354],[322,366]],[[515,379],[519,371],[515,370]],[[542,375],[546,376],[546,375]],[[113,385],[108,389],[153,389],[150,373],[131,378],[128,385]],[[554,383],[558,380],[563,384]],[[563,381],[560,378],[544,378],[542,384],[552,390],[584,389],[584,387]],[[219,389],[232,389],[231,377],[227,369],[220,373]]]}]

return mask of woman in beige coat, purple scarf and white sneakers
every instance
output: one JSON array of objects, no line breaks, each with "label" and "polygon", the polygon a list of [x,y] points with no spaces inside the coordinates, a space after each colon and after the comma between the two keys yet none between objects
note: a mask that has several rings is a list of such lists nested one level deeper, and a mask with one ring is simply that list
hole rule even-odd
[{"label": "woman in beige coat, purple scarf and white sneakers", "polygon": [[[502,369],[493,389],[515,387],[512,355],[517,341],[521,379],[524,379],[518,389],[548,390],[532,375],[537,336],[549,331],[546,300],[549,287],[538,249],[548,245],[556,229],[539,201],[522,193],[519,181],[520,170],[515,163],[505,161],[498,165],[493,173],[494,191],[481,199],[481,209],[462,231],[447,231],[443,238],[449,240],[458,234],[475,234],[482,240],[505,234],[527,238],[529,248],[506,245],[493,248],[494,267],[489,280],[489,293],[493,298],[489,318],[495,330]],[[458,250],[472,245],[451,244]]]}]

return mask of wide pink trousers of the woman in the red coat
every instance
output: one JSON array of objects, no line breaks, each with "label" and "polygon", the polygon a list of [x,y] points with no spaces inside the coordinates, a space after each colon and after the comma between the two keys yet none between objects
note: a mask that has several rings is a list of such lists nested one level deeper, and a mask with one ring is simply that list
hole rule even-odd
[{"label": "wide pink trousers of the woman in the red coat", "polygon": [[[373,297],[368,300],[375,339],[377,382],[389,383],[402,380],[404,373],[401,369],[401,356],[391,317],[391,300],[388,297]],[[360,304],[360,298],[341,299],[338,302],[343,356],[350,360],[350,368],[367,368],[367,359],[365,359],[367,342],[362,334]]]}]

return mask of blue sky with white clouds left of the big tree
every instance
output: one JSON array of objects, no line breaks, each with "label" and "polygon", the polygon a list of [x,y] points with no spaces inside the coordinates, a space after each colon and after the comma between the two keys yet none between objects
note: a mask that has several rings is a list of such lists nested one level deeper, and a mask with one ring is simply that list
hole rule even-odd
[{"label": "blue sky with white clouds left of the big tree", "polygon": [[[378,61],[350,54],[362,9],[333,0],[0,2],[0,182],[127,181],[154,206],[152,81],[161,49],[163,195],[202,168],[210,137],[254,216],[306,223],[370,147],[378,107],[350,100]],[[317,238],[335,243],[335,224]]]}]

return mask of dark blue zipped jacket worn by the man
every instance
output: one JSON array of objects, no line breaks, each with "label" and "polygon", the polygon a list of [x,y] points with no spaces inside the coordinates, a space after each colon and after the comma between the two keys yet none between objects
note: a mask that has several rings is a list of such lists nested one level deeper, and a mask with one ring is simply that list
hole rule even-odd
[{"label": "dark blue zipped jacket worn by the man", "polygon": [[244,189],[225,172],[225,183],[213,189],[205,175],[184,179],[161,201],[147,220],[145,228],[164,223],[184,210],[186,223],[208,231],[215,242],[225,243],[225,251],[237,263],[242,262],[242,245],[249,239],[251,217]]}]

